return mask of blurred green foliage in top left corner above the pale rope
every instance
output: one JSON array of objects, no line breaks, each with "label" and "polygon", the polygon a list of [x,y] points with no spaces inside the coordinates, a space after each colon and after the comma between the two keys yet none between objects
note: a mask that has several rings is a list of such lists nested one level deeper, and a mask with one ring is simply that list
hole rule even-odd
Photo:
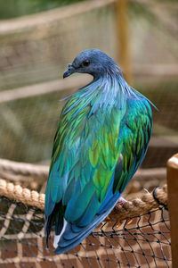
[{"label": "blurred green foliage in top left corner above the pale rope", "polygon": [[0,0],[0,20],[39,13],[84,0]]}]

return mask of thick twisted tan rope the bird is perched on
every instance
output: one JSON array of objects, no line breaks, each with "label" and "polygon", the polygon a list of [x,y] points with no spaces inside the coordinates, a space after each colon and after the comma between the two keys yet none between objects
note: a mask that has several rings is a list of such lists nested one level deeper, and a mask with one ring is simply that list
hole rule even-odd
[{"label": "thick twisted tan rope the bird is perched on", "polygon": [[[166,185],[163,188],[157,188],[155,195],[160,204],[167,205]],[[28,188],[21,188],[20,185],[14,185],[5,180],[0,180],[0,196],[44,210],[44,194],[39,194],[34,190],[31,191]],[[123,205],[118,203],[105,221],[120,222],[127,218],[145,214],[158,206],[156,199],[148,192],[133,201],[126,201]]]}]

